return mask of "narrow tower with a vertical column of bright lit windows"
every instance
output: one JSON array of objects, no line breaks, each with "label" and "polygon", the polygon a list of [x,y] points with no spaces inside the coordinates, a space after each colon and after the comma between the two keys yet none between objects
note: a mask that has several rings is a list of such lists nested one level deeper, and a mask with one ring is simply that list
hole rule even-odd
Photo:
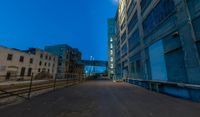
[{"label": "narrow tower with a vertical column of bright lit windows", "polygon": [[108,76],[113,77],[115,72],[115,18],[110,18],[108,24]]}]

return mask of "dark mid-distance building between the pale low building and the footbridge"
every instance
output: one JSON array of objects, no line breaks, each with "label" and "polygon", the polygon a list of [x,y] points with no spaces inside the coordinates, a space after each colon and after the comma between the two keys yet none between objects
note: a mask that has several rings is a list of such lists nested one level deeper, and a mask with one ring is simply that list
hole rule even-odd
[{"label": "dark mid-distance building between the pale low building and the footbridge", "polygon": [[64,79],[70,75],[83,75],[84,66],[81,64],[81,52],[66,44],[46,46],[45,51],[58,56],[57,78]]}]

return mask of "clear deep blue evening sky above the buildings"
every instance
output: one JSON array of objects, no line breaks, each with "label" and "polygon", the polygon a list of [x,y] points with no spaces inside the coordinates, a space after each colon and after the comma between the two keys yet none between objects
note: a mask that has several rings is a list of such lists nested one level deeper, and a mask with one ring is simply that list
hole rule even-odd
[{"label": "clear deep blue evening sky above the buildings", "polygon": [[107,60],[107,18],[116,0],[0,0],[0,45],[44,48],[66,43],[84,59]]}]

